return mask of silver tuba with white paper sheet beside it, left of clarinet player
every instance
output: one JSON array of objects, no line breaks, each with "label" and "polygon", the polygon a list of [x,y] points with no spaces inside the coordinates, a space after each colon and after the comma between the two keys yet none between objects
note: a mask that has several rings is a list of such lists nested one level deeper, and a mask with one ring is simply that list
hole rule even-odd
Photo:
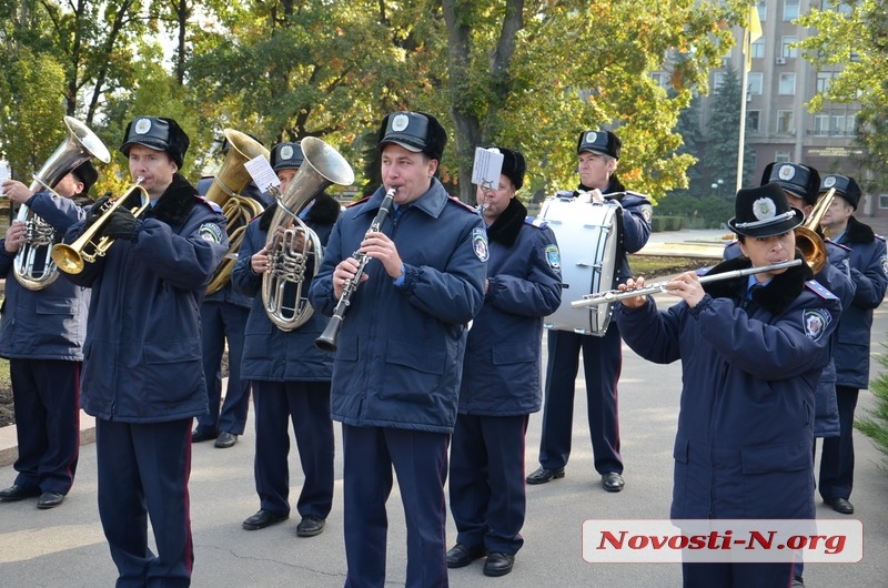
[{"label": "silver tuba with white paper sheet beside it, left of clarinet player", "polygon": [[[283,194],[275,193],[278,209],[265,242],[271,268],[262,274],[262,303],[269,320],[281,331],[302,326],[314,312],[302,292],[302,285],[312,255],[312,275],[317,273],[322,245],[315,232],[299,217],[299,213],[329,185],[354,182],[352,166],[332,146],[314,136],[306,136],[300,145],[305,160],[286,191]],[[284,227],[281,235],[278,234],[279,227]]]}]

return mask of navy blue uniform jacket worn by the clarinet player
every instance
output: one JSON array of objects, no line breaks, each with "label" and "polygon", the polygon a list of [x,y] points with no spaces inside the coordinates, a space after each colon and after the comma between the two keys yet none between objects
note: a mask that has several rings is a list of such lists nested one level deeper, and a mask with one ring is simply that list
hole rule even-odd
[{"label": "navy blue uniform jacket worn by the clarinet player", "polygon": [[[383,196],[380,187],[336,221],[310,290],[316,311],[333,314],[333,270],[360,249]],[[452,433],[466,323],[483,300],[486,232],[481,216],[436,179],[405,209],[382,225],[404,263],[404,283],[395,285],[377,260],[367,263],[369,280],[340,331],[331,416],[354,426]]]}]

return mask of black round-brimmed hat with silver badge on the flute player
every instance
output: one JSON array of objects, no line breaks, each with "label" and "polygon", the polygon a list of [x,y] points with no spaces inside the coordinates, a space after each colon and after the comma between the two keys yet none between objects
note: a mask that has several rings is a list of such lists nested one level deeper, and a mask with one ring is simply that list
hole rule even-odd
[{"label": "black round-brimmed hat with silver badge on the flute player", "polygon": [[738,235],[764,237],[780,235],[801,224],[805,213],[789,205],[778,182],[741,189],[734,202],[734,219],[728,226]]}]

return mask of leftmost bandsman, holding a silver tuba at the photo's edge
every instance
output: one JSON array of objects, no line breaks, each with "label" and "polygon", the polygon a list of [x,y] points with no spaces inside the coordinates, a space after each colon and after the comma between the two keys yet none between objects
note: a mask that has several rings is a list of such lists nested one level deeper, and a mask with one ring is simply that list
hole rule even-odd
[{"label": "leftmost bandsman, holding a silver tuba at the photo's edge", "polygon": [[[87,193],[98,176],[85,161],[59,180],[56,194],[48,190],[33,194],[14,180],[3,182],[2,189],[9,200],[27,205],[61,235],[85,216],[82,206],[90,203]],[[26,224],[14,221],[0,241],[0,276],[12,276],[26,234]],[[0,500],[40,496],[38,508],[53,508],[71,489],[80,449],[78,379],[89,303],[89,291],[65,280],[41,290],[17,280],[6,282],[0,356],[9,359],[12,377],[19,444],[13,467],[19,475],[11,487],[0,490]]]}]

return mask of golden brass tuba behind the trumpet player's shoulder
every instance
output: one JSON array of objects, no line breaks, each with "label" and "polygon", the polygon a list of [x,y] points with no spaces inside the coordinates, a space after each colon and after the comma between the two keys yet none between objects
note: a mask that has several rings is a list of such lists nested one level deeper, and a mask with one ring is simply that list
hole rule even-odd
[{"label": "golden brass tuba behind the trumpet player's shoulder", "polygon": [[251,180],[244,164],[259,155],[269,159],[269,150],[250,135],[234,129],[225,129],[223,133],[231,149],[204,197],[222,207],[229,227],[229,251],[206,286],[206,294],[218,292],[231,280],[231,271],[238,260],[238,249],[243,242],[246,224],[263,210],[262,204],[240,194]]}]

